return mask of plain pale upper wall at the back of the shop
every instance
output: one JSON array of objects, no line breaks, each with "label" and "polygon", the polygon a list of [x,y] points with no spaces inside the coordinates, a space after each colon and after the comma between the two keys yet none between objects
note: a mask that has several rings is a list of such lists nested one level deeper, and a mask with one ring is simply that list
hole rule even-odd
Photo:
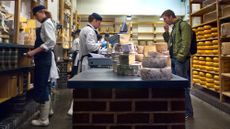
[{"label": "plain pale upper wall at the back of the shop", "polygon": [[80,14],[98,12],[102,15],[160,15],[172,9],[176,15],[185,14],[181,0],[78,0]]}]

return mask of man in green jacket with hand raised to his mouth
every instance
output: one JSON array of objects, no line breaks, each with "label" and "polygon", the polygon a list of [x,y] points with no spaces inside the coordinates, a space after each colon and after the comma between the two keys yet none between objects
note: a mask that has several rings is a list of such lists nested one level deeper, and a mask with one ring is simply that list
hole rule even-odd
[{"label": "man in green jacket with hand raised to his mouth", "polygon": [[[166,23],[163,37],[168,42],[169,53],[172,62],[172,73],[190,80],[190,46],[192,29],[187,22],[177,18],[172,10],[166,10],[161,15]],[[169,26],[173,25],[172,32]],[[185,110],[186,118],[193,118],[193,108],[190,97],[190,87],[185,88]]]}]

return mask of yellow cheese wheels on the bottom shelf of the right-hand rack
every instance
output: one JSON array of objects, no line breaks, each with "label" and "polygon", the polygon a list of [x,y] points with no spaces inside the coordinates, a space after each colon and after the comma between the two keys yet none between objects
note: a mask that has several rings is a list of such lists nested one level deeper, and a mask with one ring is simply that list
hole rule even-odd
[{"label": "yellow cheese wheels on the bottom shelf of the right-hand rack", "polygon": [[219,75],[194,70],[192,73],[192,77],[193,84],[205,87],[216,92],[220,91]]}]

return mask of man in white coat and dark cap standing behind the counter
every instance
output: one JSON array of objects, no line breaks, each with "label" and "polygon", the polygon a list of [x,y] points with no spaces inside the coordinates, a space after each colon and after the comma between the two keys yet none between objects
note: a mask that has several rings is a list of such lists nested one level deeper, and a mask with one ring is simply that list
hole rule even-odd
[{"label": "man in white coat and dark cap standing behind the counter", "polygon": [[88,57],[90,53],[98,53],[101,44],[98,43],[98,29],[101,25],[102,17],[97,13],[92,13],[88,17],[88,24],[80,32],[79,68],[78,72],[89,68]]}]

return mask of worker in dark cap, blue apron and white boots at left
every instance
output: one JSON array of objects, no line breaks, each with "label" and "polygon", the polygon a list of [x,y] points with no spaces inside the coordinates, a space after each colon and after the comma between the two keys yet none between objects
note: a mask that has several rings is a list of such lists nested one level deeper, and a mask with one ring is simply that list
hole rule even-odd
[{"label": "worker in dark cap, blue apron and white boots at left", "polygon": [[[32,94],[34,100],[40,104],[39,118],[32,120],[31,124],[33,126],[48,126],[51,103],[49,80],[53,75],[52,69],[56,66],[52,52],[56,45],[56,27],[51,20],[51,14],[44,6],[38,5],[32,11],[36,20],[41,23],[41,27],[36,29],[34,49],[27,52],[27,56],[34,57],[35,71]],[[58,76],[58,73],[56,74]]]}]

